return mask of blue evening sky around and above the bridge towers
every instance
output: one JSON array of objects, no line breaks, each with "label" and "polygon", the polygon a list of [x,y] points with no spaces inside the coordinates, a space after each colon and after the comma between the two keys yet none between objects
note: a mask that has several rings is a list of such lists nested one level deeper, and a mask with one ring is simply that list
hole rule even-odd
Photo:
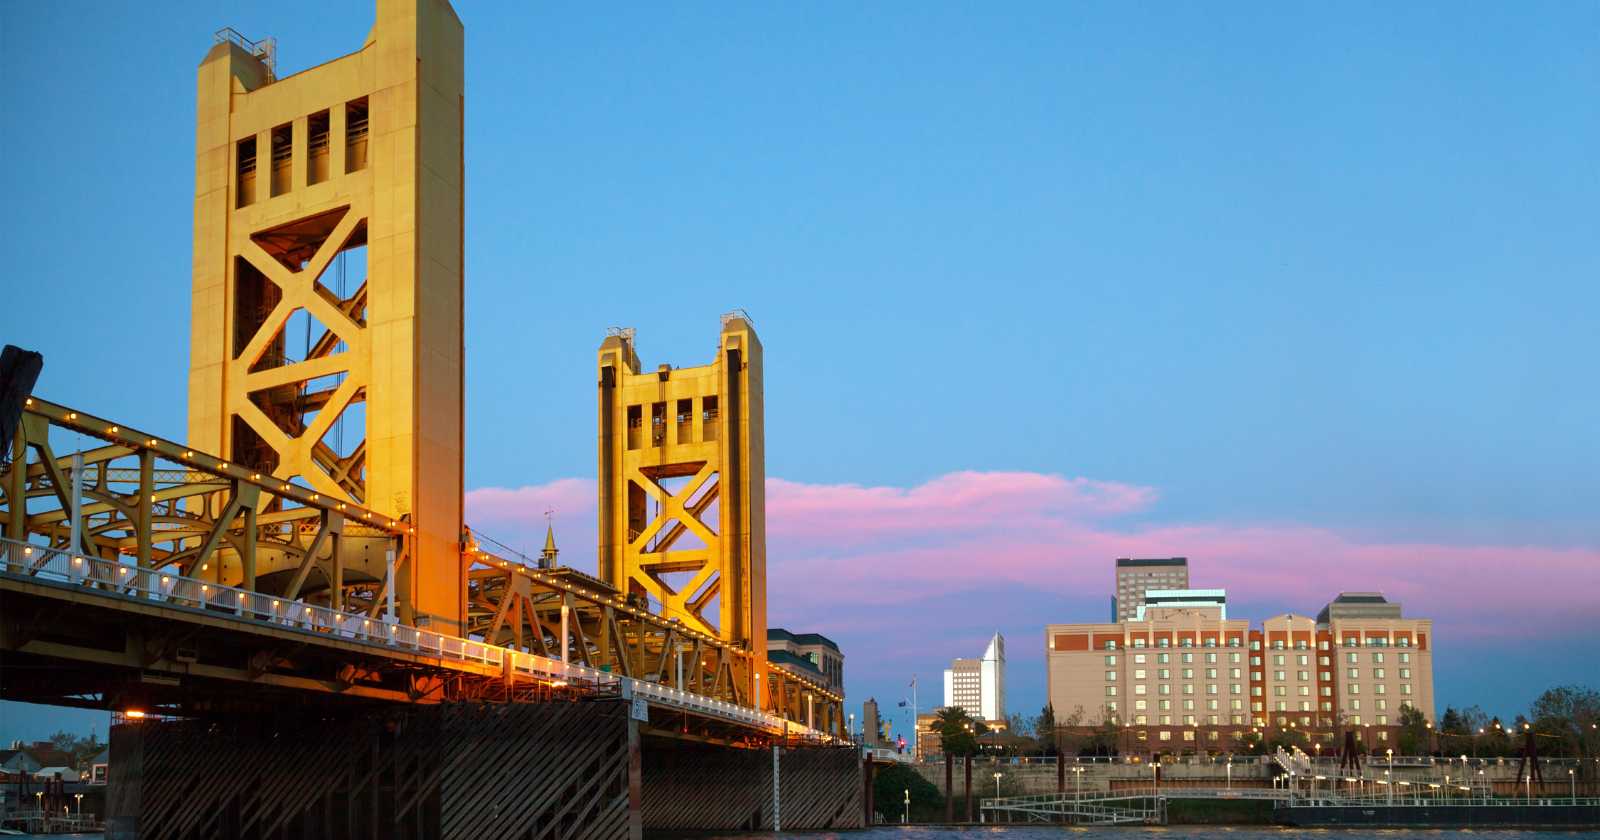
[{"label": "blue evening sky around and above the bridge towers", "polygon": [[[1525,678],[1502,680],[1443,635],[1440,706],[1520,709],[1600,674],[1600,597],[1562,571],[1600,560],[1600,6],[461,14],[469,486],[592,477],[603,330],[637,326],[646,365],[694,365],[717,315],[744,307],[766,347],[773,477],[1085,477],[1154,490],[1120,512],[1123,536],[1314,528],[1443,547],[1442,576],[1482,579],[1498,547],[1546,552],[1568,560],[1530,586],[1563,590],[1587,638],[1550,627]],[[182,434],[195,66],[221,26],[275,35],[293,72],[358,48],[370,21],[358,2],[174,3],[158,21],[0,5],[0,338],[45,354],[42,394]],[[592,557],[581,528],[563,523],[574,562]],[[893,658],[882,626],[835,634],[853,699],[976,654],[1003,614],[1013,704],[1035,710],[1043,622],[1104,613],[1093,584],[1027,610],[997,606],[1014,589],[901,597],[926,568],[830,554],[854,538],[818,528],[773,562],[883,563],[870,595],[894,627],[949,635]],[[1248,586],[1216,552],[1171,554]],[[1109,590],[1110,560],[1085,571],[1099,560],[1062,546],[1059,578]],[[1282,558],[1312,578],[1320,560]],[[1366,587],[1408,568],[1394,574]],[[784,597],[774,619],[798,621]],[[1496,592],[1454,597],[1406,606],[1466,626]],[[1594,667],[1555,670],[1573,653]],[[37,726],[0,710],[3,738]]]}]

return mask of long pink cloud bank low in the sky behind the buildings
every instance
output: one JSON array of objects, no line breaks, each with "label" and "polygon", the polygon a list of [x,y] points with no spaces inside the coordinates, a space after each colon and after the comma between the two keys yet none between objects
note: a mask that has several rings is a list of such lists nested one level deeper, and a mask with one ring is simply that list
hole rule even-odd
[{"label": "long pink cloud bank low in the sky behind the buildings", "polygon": [[[912,488],[770,478],[768,611],[774,622],[888,627],[915,619],[931,600],[1016,592],[1027,594],[1042,632],[1045,622],[1104,621],[1102,608],[1085,614],[1082,605],[1104,603],[1112,558],[1186,555],[1194,586],[1226,587],[1234,603],[1314,614],[1341,590],[1376,589],[1408,614],[1434,618],[1442,637],[1600,629],[1595,547],[1374,541],[1306,523],[1120,520],[1149,514],[1155,501],[1146,486],[1035,472],[954,472]],[[594,566],[594,506],[595,485],[581,478],[467,494],[474,525],[499,539],[499,531],[528,530],[542,539],[544,509],[555,507],[563,562],[579,568]]]}]

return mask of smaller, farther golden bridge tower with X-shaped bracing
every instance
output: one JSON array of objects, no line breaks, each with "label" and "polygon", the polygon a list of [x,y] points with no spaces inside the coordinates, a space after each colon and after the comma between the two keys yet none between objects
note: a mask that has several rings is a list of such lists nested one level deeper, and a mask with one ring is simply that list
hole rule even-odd
[{"label": "smaller, farther golden bridge tower with X-shaped bracing", "polygon": [[[632,330],[600,344],[600,576],[766,661],[762,342],[723,317],[717,358],[642,371]],[[754,675],[744,677],[754,682]],[[755,688],[747,683],[744,690]]]}]

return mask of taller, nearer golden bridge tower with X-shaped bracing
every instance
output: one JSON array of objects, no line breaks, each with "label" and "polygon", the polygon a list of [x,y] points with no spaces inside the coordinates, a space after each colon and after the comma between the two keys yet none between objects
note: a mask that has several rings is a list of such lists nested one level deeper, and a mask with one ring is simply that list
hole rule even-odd
[{"label": "taller, nearer golden bridge tower with X-shaped bracing", "polygon": [[402,619],[459,634],[461,21],[378,0],[355,53],[270,59],[219,37],[198,70],[189,442],[408,520]]}]

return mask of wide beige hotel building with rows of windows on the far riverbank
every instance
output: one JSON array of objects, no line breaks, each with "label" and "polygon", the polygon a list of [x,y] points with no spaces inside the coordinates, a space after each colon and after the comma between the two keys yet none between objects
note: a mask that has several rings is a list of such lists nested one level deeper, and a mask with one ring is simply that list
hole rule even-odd
[{"label": "wide beige hotel building with rows of windows on the far riverbank", "polygon": [[1432,621],[1376,592],[1346,592],[1317,618],[1227,618],[1222,590],[1152,590],[1115,624],[1045,629],[1056,720],[1114,720],[1123,752],[1237,749],[1251,730],[1296,728],[1338,749],[1395,739],[1400,707],[1434,720]]}]

